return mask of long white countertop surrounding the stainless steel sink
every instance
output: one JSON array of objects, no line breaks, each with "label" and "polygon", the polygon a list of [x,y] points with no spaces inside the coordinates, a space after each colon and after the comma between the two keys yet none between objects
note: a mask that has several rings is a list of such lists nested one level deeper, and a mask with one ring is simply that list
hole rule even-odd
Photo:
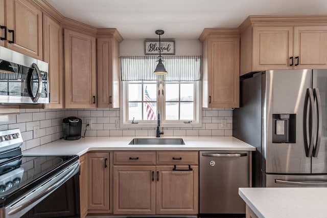
[{"label": "long white countertop surrounding the stainless steel sink", "polygon": [[133,138],[155,137],[85,137],[74,141],[60,139],[23,151],[23,154],[81,156],[91,150],[255,150],[255,147],[231,136],[166,137],[182,138],[185,145],[129,145]]}]

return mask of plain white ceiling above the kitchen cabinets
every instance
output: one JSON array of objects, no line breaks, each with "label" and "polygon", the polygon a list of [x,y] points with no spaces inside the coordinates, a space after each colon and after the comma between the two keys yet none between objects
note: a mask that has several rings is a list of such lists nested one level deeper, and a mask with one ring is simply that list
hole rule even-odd
[{"label": "plain white ceiling above the kitchen cabinets", "polygon": [[326,0],[46,0],[63,16],[124,39],[197,39],[203,28],[238,27],[249,15],[327,14]]}]

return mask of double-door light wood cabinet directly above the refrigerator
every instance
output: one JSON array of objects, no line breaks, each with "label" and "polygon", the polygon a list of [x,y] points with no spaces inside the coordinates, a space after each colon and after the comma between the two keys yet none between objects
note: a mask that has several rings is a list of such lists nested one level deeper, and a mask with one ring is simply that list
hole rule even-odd
[{"label": "double-door light wood cabinet directly above the refrigerator", "polygon": [[325,16],[249,16],[239,29],[240,75],[327,68]]}]

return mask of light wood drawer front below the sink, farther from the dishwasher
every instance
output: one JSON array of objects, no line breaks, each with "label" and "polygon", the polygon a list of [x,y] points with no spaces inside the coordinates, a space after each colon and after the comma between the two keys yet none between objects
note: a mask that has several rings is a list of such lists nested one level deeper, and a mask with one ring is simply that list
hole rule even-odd
[{"label": "light wood drawer front below the sink, farther from the dishwasher", "polygon": [[154,165],[155,151],[114,151],[115,165]]}]

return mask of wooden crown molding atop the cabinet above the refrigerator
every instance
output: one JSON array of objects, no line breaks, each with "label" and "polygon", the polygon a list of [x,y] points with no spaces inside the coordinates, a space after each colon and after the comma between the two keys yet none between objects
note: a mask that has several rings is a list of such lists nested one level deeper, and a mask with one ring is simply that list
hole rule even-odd
[{"label": "wooden crown molding atop the cabinet above the refrigerator", "polygon": [[322,23],[327,24],[327,15],[250,15],[239,26],[239,31],[242,33],[249,25],[260,24],[290,24],[292,26],[300,23]]}]

